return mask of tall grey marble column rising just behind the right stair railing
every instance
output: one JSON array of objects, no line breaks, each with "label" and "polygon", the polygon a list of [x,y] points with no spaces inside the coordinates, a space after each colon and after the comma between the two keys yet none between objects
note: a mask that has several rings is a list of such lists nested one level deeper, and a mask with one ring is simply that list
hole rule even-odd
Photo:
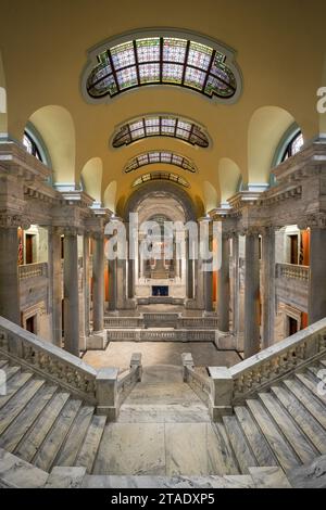
[{"label": "tall grey marble column rising just behind the right stair railing", "polygon": [[246,235],[244,279],[244,357],[250,358],[260,350],[260,256],[259,235]]}]

